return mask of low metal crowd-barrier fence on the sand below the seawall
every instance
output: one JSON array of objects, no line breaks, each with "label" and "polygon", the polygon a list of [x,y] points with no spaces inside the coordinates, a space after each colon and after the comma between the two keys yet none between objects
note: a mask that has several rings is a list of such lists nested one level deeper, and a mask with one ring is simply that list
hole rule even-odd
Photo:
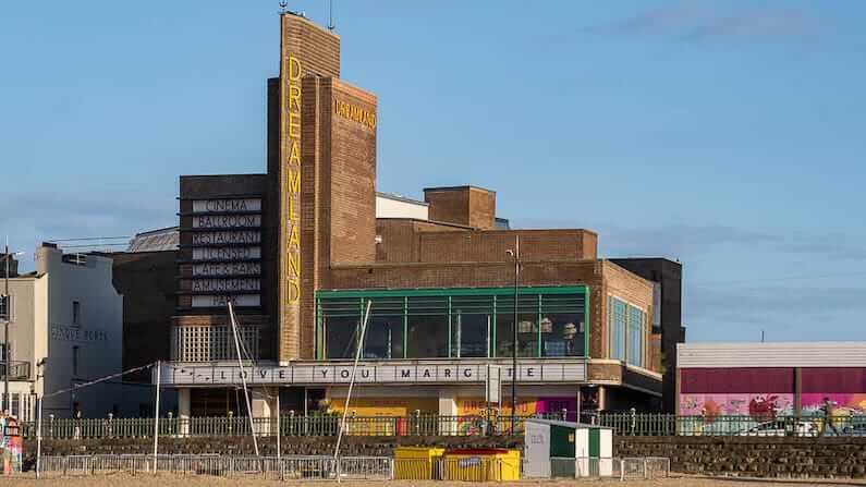
[{"label": "low metal crowd-barrier fence on the sand below the seawall", "polygon": [[[232,455],[71,455],[42,456],[42,478],[93,475],[209,475],[270,480],[462,480],[505,482],[523,477],[507,459],[467,456],[393,459],[390,456],[232,456]],[[655,479],[670,475],[666,458],[550,459],[545,477]]]}]

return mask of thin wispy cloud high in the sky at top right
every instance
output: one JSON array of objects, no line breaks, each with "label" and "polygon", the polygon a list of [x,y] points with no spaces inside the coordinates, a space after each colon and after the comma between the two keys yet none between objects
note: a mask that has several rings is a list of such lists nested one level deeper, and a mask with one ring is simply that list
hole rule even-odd
[{"label": "thin wispy cloud high in the sky at top right", "polygon": [[814,39],[825,24],[822,17],[807,9],[785,4],[735,7],[707,0],[659,7],[585,26],[581,32],[598,36],[744,44]]}]

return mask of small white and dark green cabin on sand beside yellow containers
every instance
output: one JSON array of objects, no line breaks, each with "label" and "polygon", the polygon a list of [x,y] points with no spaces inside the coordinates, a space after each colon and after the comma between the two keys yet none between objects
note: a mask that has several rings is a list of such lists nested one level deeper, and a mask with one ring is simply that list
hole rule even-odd
[{"label": "small white and dark green cabin on sand beside yellow containers", "polygon": [[609,477],[613,474],[613,429],[581,423],[526,419],[524,476]]}]

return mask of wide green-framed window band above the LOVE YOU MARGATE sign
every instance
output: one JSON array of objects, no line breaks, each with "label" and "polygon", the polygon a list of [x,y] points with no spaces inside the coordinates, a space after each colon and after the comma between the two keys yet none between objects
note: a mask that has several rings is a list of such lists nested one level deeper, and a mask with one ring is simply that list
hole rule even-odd
[{"label": "wide green-framed window band above the LOVE YOU MARGATE sign", "polygon": [[365,360],[508,358],[515,328],[519,356],[586,355],[588,289],[527,287],[519,293],[515,326],[513,288],[319,291],[316,356],[354,357],[368,302]]}]

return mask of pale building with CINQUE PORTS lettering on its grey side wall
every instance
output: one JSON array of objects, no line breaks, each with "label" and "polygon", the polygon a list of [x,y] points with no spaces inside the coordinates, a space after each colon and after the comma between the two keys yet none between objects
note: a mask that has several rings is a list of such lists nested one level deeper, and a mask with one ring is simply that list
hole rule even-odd
[{"label": "pale building with CINQUE PORTS lettering on its grey side wall", "polygon": [[[111,259],[63,254],[56,245],[36,251],[36,271],[10,279],[11,412],[35,418],[33,394],[47,394],[44,414],[103,417],[122,401],[120,378],[51,395],[122,369],[123,296],[112,285]],[[2,337],[0,337],[0,342]],[[37,366],[45,358],[44,378]]]}]

